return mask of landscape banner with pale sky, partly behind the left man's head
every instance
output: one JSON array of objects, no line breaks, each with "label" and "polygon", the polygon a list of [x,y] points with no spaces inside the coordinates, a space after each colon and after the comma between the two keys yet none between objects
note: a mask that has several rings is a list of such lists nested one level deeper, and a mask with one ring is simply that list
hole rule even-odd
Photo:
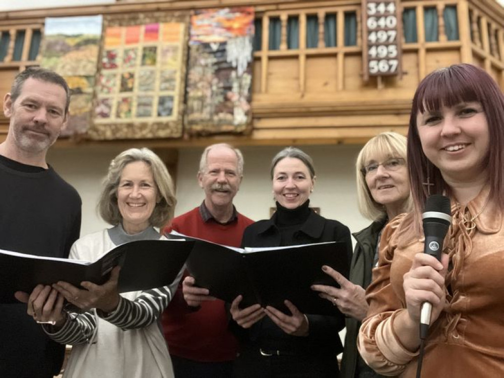
[{"label": "landscape banner with pale sky, partly behind the left man's head", "polygon": [[45,19],[41,67],[67,80],[70,118],[61,136],[85,134],[91,123],[102,16]]}]

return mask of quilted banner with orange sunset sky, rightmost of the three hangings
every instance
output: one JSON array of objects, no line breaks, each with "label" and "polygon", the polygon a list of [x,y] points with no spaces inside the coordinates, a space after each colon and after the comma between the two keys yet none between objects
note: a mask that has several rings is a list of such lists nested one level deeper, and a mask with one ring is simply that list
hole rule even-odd
[{"label": "quilted banner with orange sunset sky, rightmost of the three hangings", "polygon": [[191,17],[189,134],[241,133],[250,123],[254,8],[195,11]]}]

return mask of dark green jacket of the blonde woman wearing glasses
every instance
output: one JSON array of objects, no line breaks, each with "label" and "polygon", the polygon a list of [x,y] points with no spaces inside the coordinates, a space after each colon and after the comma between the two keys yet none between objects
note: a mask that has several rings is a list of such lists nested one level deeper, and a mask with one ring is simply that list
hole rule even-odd
[{"label": "dark green jacket of the blonde woman wearing glasses", "polygon": [[[386,223],[387,219],[382,218],[374,221],[362,231],[352,234],[355,240],[357,240],[357,244],[355,245],[352,263],[350,265],[350,281],[356,285],[362,286],[364,289],[371,283],[371,270],[373,268],[378,235]],[[350,317],[346,318],[345,347],[343,359],[341,361],[342,378],[355,378],[357,363],[359,363],[359,366],[365,364],[360,358],[357,350],[357,335],[359,333],[360,324],[361,322],[357,319]],[[368,369],[370,370],[370,368]],[[371,373],[371,371],[372,370],[370,370],[369,373]],[[381,377],[381,375],[376,373],[366,376]]]}]

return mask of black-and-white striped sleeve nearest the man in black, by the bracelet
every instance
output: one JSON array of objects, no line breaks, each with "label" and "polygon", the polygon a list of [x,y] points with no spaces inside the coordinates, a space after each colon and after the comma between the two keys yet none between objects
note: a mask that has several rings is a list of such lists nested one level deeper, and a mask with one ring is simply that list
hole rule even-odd
[{"label": "black-and-white striped sleeve nearest the man in black, by the bracelet", "polygon": [[59,330],[54,326],[44,324],[44,332],[54,341],[60,344],[77,345],[88,342],[96,328],[94,311],[68,314],[67,321]]}]

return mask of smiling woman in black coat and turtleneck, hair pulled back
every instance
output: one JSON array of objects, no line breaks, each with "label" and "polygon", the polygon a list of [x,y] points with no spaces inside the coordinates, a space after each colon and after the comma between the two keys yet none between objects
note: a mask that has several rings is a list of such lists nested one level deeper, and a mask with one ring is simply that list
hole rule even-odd
[{"label": "smiling woman in black coat and turtleneck, hair pulled back", "polygon": [[[309,208],[315,171],[311,158],[288,147],[272,161],[271,178],[277,211],[271,219],[245,229],[242,246],[272,247],[326,241],[346,243],[348,261],[352,244],[348,227],[325,219]],[[282,269],[282,267],[279,267]],[[231,305],[233,320],[241,327],[242,351],[235,362],[238,377],[338,377],[336,356],[343,350],[338,332],[345,326],[335,316],[301,313],[285,301],[291,314],[259,304],[239,308],[241,296]]]}]

